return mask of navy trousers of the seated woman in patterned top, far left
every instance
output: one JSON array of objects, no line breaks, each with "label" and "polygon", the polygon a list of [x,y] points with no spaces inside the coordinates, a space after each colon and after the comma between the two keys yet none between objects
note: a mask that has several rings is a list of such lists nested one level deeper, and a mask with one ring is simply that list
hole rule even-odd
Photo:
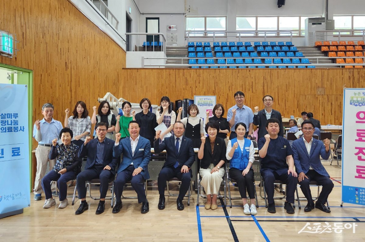
[{"label": "navy trousers of the seated woman in patterned top, far left", "polygon": [[57,181],[59,200],[60,201],[65,200],[67,196],[67,182],[74,180],[76,176],[77,173],[74,171],[69,171],[61,175],[55,172],[54,170],[50,170],[42,178],[42,188],[46,194],[46,199],[50,199],[52,197],[51,181]]}]

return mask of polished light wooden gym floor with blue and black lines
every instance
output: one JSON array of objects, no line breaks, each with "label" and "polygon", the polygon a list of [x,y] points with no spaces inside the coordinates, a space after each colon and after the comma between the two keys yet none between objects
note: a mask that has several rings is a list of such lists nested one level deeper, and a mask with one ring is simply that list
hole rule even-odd
[{"label": "polished light wooden gym floor with blue and black lines", "polygon": [[[204,199],[200,199],[200,206],[196,207],[196,194],[191,197],[191,204],[185,210],[176,209],[176,197],[166,196],[165,210],[158,210],[158,191],[156,183],[149,188],[147,198],[150,211],[141,214],[141,205],[137,200],[123,200],[123,208],[118,214],[112,214],[110,200],[106,201],[105,212],[95,215],[98,201],[87,199],[89,210],[81,215],[74,215],[79,206],[68,205],[65,209],[58,209],[57,205],[43,209],[44,197],[41,201],[34,201],[31,194],[31,206],[24,209],[23,214],[0,219],[0,241],[365,241],[365,208],[341,204],[341,169],[323,162],[331,179],[334,189],[329,197],[331,214],[318,209],[304,212],[306,201],[302,201],[302,209],[295,209],[295,214],[284,212],[283,200],[276,200],[276,214],[266,211],[264,200],[259,196],[256,216],[243,214],[242,202],[233,200],[233,207],[220,206],[217,210],[205,210]],[[257,183],[258,185],[258,183]],[[172,188],[176,185],[172,185]],[[72,195],[73,188],[69,188]],[[257,193],[259,187],[256,186]],[[232,195],[238,195],[238,189],[231,187]],[[303,196],[299,187],[299,196]],[[97,195],[98,188],[93,188]],[[167,192],[166,192],[167,193]],[[109,194],[109,193],[108,193]],[[123,195],[135,194],[126,190]],[[276,195],[280,195],[277,193]],[[312,195],[316,195],[316,188],[312,188]],[[71,204],[72,198],[69,198]],[[297,205],[297,204],[296,204]],[[306,227],[313,228],[314,223],[320,223],[322,229],[318,233],[298,232]],[[323,231],[328,225],[333,228],[334,223],[357,225],[353,229],[344,229],[342,233]],[[349,226],[349,225],[347,225]],[[307,227],[306,227],[307,228]],[[303,231],[310,231],[305,229]],[[322,233],[319,233],[323,231]]]}]

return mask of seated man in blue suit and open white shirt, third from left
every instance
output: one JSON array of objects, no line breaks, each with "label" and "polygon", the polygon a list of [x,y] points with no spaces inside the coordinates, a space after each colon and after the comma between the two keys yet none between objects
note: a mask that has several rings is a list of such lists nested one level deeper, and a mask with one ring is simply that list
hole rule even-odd
[{"label": "seated man in blue suit and open white shirt, third from left", "polygon": [[113,214],[118,213],[122,208],[120,197],[127,181],[131,181],[132,187],[137,192],[138,203],[142,203],[141,213],[146,214],[149,211],[143,181],[150,178],[148,163],[151,159],[151,143],[139,135],[140,129],[139,123],[133,120],[128,125],[130,137],[119,141],[121,134],[115,135],[113,156],[120,157],[123,154],[123,158],[114,182],[116,203]]}]

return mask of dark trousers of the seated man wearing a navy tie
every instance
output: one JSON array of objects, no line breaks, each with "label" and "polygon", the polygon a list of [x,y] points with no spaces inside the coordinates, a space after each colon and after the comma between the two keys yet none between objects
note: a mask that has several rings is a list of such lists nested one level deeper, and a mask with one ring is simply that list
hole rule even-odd
[{"label": "dark trousers of the seated man wearing a navy tie", "polygon": [[177,166],[177,168],[174,168],[173,166],[168,166],[161,169],[157,179],[158,193],[160,193],[160,197],[165,196],[166,181],[173,177],[177,177],[181,181],[179,196],[177,197],[177,199],[183,200],[184,195],[186,194],[190,186],[191,169],[188,173],[181,173],[180,165]]}]

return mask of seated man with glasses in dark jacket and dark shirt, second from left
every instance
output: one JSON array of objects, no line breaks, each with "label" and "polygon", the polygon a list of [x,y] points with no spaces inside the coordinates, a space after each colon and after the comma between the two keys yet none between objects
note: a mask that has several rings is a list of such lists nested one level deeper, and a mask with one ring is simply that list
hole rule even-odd
[{"label": "seated man with glasses in dark jacket and dark shirt, second from left", "polygon": [[86,202],[85,181],[100,179],[100,201],[95,214],[101,214],[105,210],[105,196],[107,195],[109,180],[115,175],[115,167],[118,164],[117,158],[113,156],[114,141],[105,138],[108,126],[104,122],[96,124],[96,139],[86,137],[84,144],[78,151],[78,157],[87,155],[85,170],[80,172],[76,178],[78,198],[81,199],[80,207],[75,214],[82,214],[88,210]]}]

